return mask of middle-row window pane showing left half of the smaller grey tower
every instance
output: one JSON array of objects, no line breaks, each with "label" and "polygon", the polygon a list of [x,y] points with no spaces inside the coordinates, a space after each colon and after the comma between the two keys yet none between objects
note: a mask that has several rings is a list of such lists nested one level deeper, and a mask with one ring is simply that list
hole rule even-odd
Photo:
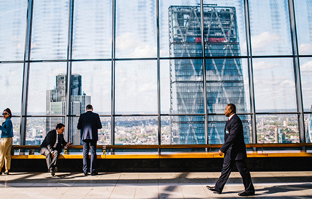
[{"label": "middle-row window pane showing left half of the smaller grey tower", "polygon": [[30,64],[27,115],[65,114],[65,74],[66,62]]}]

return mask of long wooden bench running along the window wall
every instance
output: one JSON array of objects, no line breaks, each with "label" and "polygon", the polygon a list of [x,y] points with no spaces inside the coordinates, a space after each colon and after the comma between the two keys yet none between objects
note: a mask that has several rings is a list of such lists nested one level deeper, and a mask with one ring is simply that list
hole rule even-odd
[{"label": "long wooden bench running along the window wall", "polygon": [[[222,144],[188,144],[188,145],[97,145],[103,154],[97,155],[97,159],[161,159],[161,158],[223,158],[216,151]],[[38,145],[14,145],[14,149],[39,149]],[[247,148],[261,149],[247,151],[249,158],[265,157],[312,157],[312,150],[285,150],[286,148],[312,147],[312,143],[279,143],[279,144],[246,144]],[[68,149],[82,149],[82,145],[73,145]],[[264,150],[270,148],[271,150]],[[277,148],[283,150],[272,150]],[[108,152],[112,149],[157,149],[158,152]],[[206,152],[164,152],[164,149],[206,149]],[[215,150],[215,152],[213,151]],[[82,159],[82,153],[60,154],[60,159]],[[12,159],[45,159],[43,155],[29,155],[18,153],[12,155]]]}]

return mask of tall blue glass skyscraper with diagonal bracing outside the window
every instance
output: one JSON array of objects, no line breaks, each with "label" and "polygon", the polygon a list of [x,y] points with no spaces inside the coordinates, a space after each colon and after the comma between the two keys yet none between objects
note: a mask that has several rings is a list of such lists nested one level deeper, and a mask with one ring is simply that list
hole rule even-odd
[{"label": "tall blue glass skyscraper with diagonal bracing outside the window", "polygon": [[[240,46],[235,7],[204,7],[206,56],[239,56]],[[199,6],[169,7],[170,57],[202,57]],[[246,111],[245,90],[240,59],[207,59],[206,85],[208,113],[223,113],[228,103],[237,112]],[[170,61],[170,113],[204,113],[202,59]],[[247,116],[244,124],[246,143],[250,143]],[[224,115],[208,116],[209,143],[224,141]],[[204,116],[171,116],[171,144],[204,144]]]}]

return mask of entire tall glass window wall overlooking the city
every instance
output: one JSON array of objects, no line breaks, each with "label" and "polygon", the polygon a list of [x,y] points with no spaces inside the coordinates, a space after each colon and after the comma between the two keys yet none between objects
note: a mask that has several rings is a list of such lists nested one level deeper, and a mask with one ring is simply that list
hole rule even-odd
[{"label": "entire tall glass window wall overlooking the city", "polygon": [[223,143],[228,103],[247,143],[311,142],[311,7],[0,0],[0,108],[13,113],[13,143],[40,144],[55,120],[79,144],[88,102],[99,144]]}]

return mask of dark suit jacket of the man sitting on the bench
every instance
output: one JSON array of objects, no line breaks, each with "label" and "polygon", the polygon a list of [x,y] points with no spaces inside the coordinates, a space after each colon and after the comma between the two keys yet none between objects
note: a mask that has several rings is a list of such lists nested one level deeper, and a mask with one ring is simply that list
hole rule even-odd
[{"label": "dark suit jacket of the man sitting on the bench", "polygon": [[[43,142],[40,145],[39,148],[39,153],[44,154],[45,150],[49,150],[50,152],[54,151],[53,146],[56,142],[56,129],[51,130],[48,132],[48,134],[46,134]],[[60,138],[61,140],[58,140],[58,142],[60,142],[63,146],[65,146],[67,144],[67,142],[64,140],[64,135],[60,134]],[[58,153],[61,153],[61,149],[57,149],[57,147],[55,148],[55,150],[58,151]]]}]

